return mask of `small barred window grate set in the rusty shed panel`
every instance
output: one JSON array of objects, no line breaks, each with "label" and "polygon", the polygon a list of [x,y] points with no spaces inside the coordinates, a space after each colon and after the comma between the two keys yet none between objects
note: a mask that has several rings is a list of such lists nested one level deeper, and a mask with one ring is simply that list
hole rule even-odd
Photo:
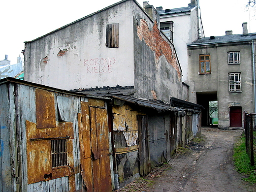
[{"label": "small barred window grate set in the rusty shed panel", "polygon": [[52,168],[67,166],[66,139],[51,140]]}]

